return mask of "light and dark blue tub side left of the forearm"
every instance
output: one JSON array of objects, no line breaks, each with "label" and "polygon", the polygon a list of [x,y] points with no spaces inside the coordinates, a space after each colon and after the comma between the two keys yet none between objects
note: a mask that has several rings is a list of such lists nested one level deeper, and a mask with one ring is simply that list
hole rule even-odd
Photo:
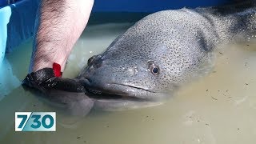
[{"label": "light and dark blue tub side left of the forearm", "polygon": [[30,38],[34,31],[38,0],[15,2],[0,8],[0,65],[5,53]]}]

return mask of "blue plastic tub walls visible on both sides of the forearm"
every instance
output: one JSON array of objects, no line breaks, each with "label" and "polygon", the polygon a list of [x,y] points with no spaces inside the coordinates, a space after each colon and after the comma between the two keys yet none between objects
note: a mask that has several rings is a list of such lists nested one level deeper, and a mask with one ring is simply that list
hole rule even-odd
[{"label": "blue plastic tub walls visible on both sides of the forearm", "polygon": [[[34,19],[40,0],[19,0],[6,6],[0,0],[0,62],[4,54],[11,52],[34,32]],[[10,1],[12,2],[12,1]],[[184,6],[218,6],[229,0],[94,0],[93,13],[97,12],[140,12],[153,13],[158,10],[178,9]],[[1,8],[2,7],[2,8]]]}]

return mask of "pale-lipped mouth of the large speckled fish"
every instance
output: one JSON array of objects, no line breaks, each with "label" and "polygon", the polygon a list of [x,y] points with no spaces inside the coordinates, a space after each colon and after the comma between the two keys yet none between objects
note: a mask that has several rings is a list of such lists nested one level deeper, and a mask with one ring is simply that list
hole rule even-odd
[{"label": "pale-lipped mouth of the large speckled fish", "polygon": [[86,78],[79,80],[86,88],[86,95],[94,99],[123,99],[137,102],[146,102],[151,99],[148,95],[155,95],[154,90],[147,90],[138,86],[120,83],[94,84]]}]

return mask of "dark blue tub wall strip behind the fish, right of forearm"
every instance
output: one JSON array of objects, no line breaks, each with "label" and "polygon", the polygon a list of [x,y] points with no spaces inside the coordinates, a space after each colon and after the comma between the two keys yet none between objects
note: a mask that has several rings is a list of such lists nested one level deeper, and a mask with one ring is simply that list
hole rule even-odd
[{"label": "dark blue tub wall strip behind the fish, right of forearm", "polygon": [[155,12],[198,6],[218,6],[234,0],[94,0],[93,11]]}]

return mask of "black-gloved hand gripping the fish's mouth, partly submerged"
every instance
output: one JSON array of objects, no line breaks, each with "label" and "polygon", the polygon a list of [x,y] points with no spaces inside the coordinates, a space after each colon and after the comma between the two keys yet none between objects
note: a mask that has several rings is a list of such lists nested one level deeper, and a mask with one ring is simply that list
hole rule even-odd
[{"label": "black-gloved hand gripping the fish's mouth, partly submerged", "polygon": [[51,68],[27,74],[22,85],[39,90],[50,101],[64,104],[73,115],[85,116],[94,106],[82,84],[75,79],[55,77]]}]

